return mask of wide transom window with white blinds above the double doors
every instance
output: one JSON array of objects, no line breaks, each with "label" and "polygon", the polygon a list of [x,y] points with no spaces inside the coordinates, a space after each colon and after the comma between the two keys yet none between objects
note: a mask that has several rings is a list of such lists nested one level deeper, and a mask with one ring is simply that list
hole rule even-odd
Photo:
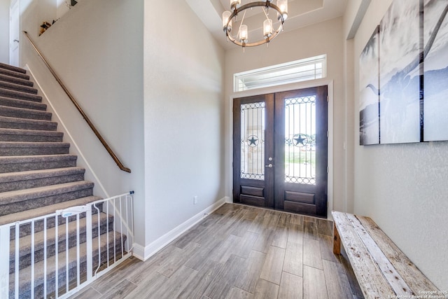
[{"label": "wide transom window with white blinds above the double doors", "polygon": [[327,55],[309,57],[235,74],[234,92],[325,78]]}]

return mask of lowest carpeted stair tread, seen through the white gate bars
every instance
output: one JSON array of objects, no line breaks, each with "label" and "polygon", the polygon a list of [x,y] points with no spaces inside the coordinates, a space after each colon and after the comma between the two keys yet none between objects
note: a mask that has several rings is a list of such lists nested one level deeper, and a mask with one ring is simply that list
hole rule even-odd
[{"label": "lowest carpeted stair tread, seen through the white gate bars", "polygon": [[[118,249],[121,249],[122,245],[122,241],[125,242],[126,240],[126,236],[122,235],[119,232],[109,232],[107,235],[109,235],[109,244],[107,244],[106,241],[106,234],[102,235],[101,237],[96,237],[92,239],[92,256],[93,256],[93,263],[94,263],[94,267],[93,270],[95,270],[95,268],[97,267],[97,263],[98,263],[98,256],[99,256],[99,251],[102,252],[102,255],[104,255],[107,251],[112,251],[114,249],[114,246]],[[80,265],[84,265],[85,267],[85,263],[87,260],[87,254],[86,254],[86,246],[80,246],[80,254],[79,254],[79,259],[77,256],[77,252],[76,252],[76,247],[73,247],[71,249],[69,249],[69,254],[68,254],[68,258],[69,258],[69,270],[72,270],[73,272],[75,272],[76,270],[76,265],[78,263],[80,263]],[[121,253],[117,253],[120,254]],[[55,256],[51,256],[50,258],[47,258],[47,260],[42,260],[38,263],[34,264],[34,286],[35,288],[39,288],[39,286],[41,286],[43,284],[43,264],[46,262],[47,265],[47,288],[48,288],[48,293],[51,293],[52,291],[54,291],[55,288]],[[65,265],[65,260],[66,260],[66,252],[61,252],[58,254],[57,256],[57,260],[59,260],[59,264],[58,264],[58,269],[57,272],[60,275],[59,276],[59,286],[64,285],[65,284],[65,273],[66,273],[66,265]],[[31,267],[31,266],[30,266]],[[72,273],[73,273],[72,272]],[[20,294],[19,294],[19,298],[29,298],[29,288],[31,285],[31,271],[30,269],[23,269],[20,271],[19,273],[19,290],[20,290]],[[69,272],[70,273],[70,272]],[[14,274],[10,274],[9,276],[9,291],[10,291],[10,295],[14,293]],[[71,275],[69,274],[69,280],[71,279],[76,279],[76,274],[73,275],[73,277],[71,277]],[[43,294],[36,294],[36,298],[38,298],[39,296],[41,296]]]}]

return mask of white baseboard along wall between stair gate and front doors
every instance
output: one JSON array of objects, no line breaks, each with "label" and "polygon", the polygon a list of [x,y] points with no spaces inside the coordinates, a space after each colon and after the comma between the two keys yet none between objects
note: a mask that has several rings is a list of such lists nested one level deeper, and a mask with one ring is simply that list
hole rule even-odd
[{"label": "white baseboard along wall between stair gate and front doors", "polygon": [[192,218],[188,219],[176,228],[170,230],[165,235],[162,235],[162,237],[156,239],[154,242],[147,246],[134,244],[134,249],[132,252],[133,256],[139,258],[139,260],[147,260],[148,258],[151,258],[151,256],[160,251],[160,249],[162,249],[163,247],[167,246],[167,244],[176,239],[176,237],[182,235],[183,232],[186,232],[189,228],[201,221],[203,218],[207,217],[209,214],[213,213],[216,209],[221,207],[226,202],[232,202],[230,197],[226,196],[221,198],[221,200],[218,200],[207,209],[200,211]]}]

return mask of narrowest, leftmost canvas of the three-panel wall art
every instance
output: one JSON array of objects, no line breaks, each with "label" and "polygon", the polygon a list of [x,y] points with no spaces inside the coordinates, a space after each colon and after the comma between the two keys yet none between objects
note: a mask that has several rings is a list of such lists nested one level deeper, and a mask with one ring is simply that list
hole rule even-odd
[{"label": "narrowest, leftmost canvas of the three-panel wall art", "polygon": [[379,26],[359,57],[359,144],[379,144]]}]

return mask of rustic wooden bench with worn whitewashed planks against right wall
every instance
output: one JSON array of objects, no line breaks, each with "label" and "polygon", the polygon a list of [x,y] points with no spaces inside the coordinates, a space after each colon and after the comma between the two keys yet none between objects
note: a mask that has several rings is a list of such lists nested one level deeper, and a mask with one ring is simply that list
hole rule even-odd
[{"label": "rustic wooden bench with worn whitewashed planks against right wall", "polygon": [[344,245],[365,299],[446,298],[371,218],[339,211],[332,216],[333,252],[341,254]]}]

